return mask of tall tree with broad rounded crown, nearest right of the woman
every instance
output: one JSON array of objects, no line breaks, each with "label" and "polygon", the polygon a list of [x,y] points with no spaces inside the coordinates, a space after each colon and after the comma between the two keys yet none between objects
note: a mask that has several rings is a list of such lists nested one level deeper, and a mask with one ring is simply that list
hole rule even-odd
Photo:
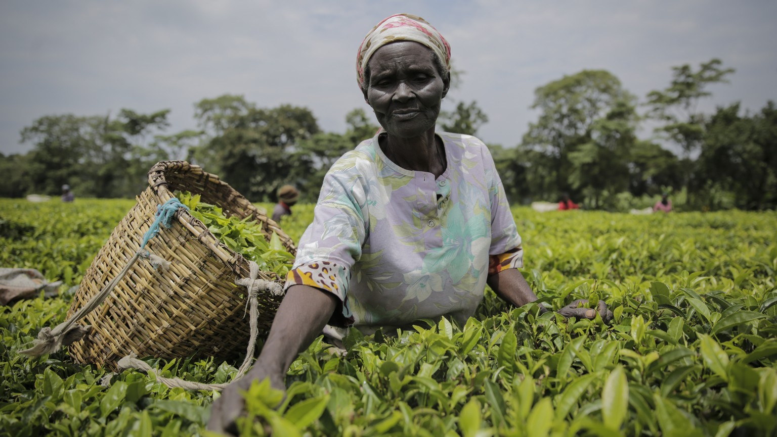
[{"label": "tall tree with broad rounded crown, nearest right of the woman", "polygon": [[519,153],[540,158],[531,163],[538,184],[532,191],[585,192],[599,207],[602,192],[625,190],[628,152],[636,140],[635,102],[604,70],[580,71],[537,88],[531,107],[540,110],[539,119],[519,146]]}]

